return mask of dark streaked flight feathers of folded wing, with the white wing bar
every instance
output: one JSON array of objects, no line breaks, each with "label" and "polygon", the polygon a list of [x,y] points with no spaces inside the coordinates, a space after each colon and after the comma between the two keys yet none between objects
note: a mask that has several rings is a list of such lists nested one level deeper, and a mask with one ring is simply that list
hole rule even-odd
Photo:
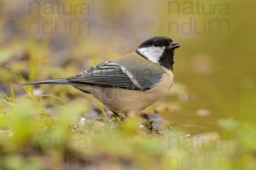
[{"label": "dark streaked flight feathers of folded wing, with the white wing bar", "polygon": [[143,76],[135,76],[133,72],[114,61],[107,61],[81,72],[78,76],[67,78],[68,82],[85,83],[111,88],[125,88],[146,91],[154,86]]}]

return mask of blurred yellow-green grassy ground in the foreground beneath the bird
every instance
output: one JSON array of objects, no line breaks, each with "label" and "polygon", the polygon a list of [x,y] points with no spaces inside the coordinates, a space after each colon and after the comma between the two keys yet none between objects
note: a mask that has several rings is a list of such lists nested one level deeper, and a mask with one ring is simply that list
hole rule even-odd
[{"label": "blurred yellow-green grassy ground in the foreground beneath the bird", "polygon": [[[0,105],[1,169],[106,165],[139,169],[255,168],[256,126],[252,122],[220,120],[224,132],[231,133],[230,139],[216,133],[188,136],[168,126],[157,134],[143,127],[138,117],[125,122],[86,119],[82,123],[79,119],[88,111],[88,105],[82,102],[67,105],[55,95],[31,96],[27,88],[28,95],[15,98],[12,83],[10,91],[11,96],[1,99]],[[254,97],[245,94],[242,100],[250,103]],[[47,99],[61,103],[55,105],[55,115],[49,115],[43,105]],[[241,104],[241,111],[247,111],[244,106]]]}]

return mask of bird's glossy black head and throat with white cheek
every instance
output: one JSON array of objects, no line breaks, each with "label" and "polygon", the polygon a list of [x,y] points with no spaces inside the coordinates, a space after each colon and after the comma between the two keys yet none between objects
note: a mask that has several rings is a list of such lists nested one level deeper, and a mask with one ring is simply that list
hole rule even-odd
[{"label": "bird's glossy black head and throat with white cheek", "polygon": [[169,37],[151,37],[140,44],[136,52],[145,59],[172,70],[174,49],[179,47],[180,45],[172,42]]}]

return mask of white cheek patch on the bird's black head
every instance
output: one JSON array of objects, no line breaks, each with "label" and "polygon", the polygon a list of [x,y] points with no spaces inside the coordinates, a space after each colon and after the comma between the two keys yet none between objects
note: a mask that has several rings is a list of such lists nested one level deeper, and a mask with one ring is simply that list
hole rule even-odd
[{"label": "white cheek patch on the bird's black head", "polygon": [[148,60],[153,63],[159,64],[159,59],[164,53],[166,47],[148,47],[148,48],[138,48],[138,52],[143,54]]}]

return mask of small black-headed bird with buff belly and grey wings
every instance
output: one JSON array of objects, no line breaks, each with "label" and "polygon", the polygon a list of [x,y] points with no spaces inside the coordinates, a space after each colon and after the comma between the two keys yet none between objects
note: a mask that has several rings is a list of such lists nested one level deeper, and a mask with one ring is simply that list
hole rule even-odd
[{"label": "small black-headed bird with buff belly and grey wings", "polygon": [[66,84],[92,94],[113,114],[137,113],[153,105],[172,87],[174,51],[180,44],[170,37],[150,37],[134,52],[108,60],[67,78],[26,82]]}]

